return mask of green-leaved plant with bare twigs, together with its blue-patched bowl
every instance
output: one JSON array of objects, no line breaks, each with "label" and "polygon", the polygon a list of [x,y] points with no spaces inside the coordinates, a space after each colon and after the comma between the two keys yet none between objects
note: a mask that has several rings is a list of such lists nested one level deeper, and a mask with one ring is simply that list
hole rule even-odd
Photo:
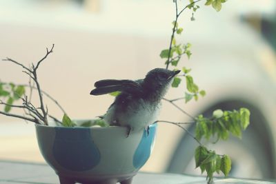
[{"label": "green-leaved plant with bare twigs, together with its blue-patched bowl", "polygon": [[[178,19],[185,10],[192,10],[191,20],[195,20],[194,13],[199,9],[197,3],[201,1],[190,0],[187,6],[179,7],[177,0],[175,3],[175,20],[172,22],[172,35],[168,49],[162,50],[160,57],[165,59],[166,70],[179,70],[181,57],[186,55],[190,58],[190,43],[177,43],[176,35],[181,34],[183,29],[179,26]],[[212,5],[215,10],[221,9],[221,3],[225,0],[207,0],[206,6]],[[128,130],[124,126],[110,126],[104,119],[88,121],[72,121],[59,103],[48,93],[41,90],[37,78],[37,70],[41,63],[52,53],[54,45],[50,50],[46,50],[46,55],[37,63],[33,63],[30,68],[7,58],[3,61],[12,62],[19,65],[30,77],[29,85],[15,85],[14,83],[0,83],[0,104],[4,110],[0,114],[12,116],[35,123],[37,130],[37,140],[41,154],[48,164],[57,172],[61,183],[131,183],[139,168],[146,163],[155,139],[157,123],[170,123],[177,125],[192,136],[199,146],[195,150],[196,167],[200,167],[201,172],[207,173],[208,183],[213,181],[215,172],[223,172],[225,176],[230,172],[231,161],[227,155],[216,154],[213,150],[208,150],[201,143],[201,139],[209,140],[215,137],[226,140],[230,133],[240,137],[242,130],[249,125],[250,112],[246,108],[233,111],[215,110],[213,116],[208,118],[202,115],[191,116],[186,111],[179,108],[175,103],[178,100],[185,100],[186,103],[199,96],[205,96],[204,90],[199,90],[195,84],[193,76],[190,75],[189,68],[181,68],[181,74],[172,79],[172,88],[177,88],[184,79],[187,92],[184,97],[177,99],[165,99],[181,112],[188,115],[191,122],[172,122],[154,120],[148,130],[133,130],[126,136]],[[28,95],[27,95],[28,89]],[[39,107],[32,104],[32,91],[37,90],[39,95]],[[117,96],[119,92],[112,92]],[[44,96],[48,96],[63,111],[62,120],[52,116],[48,111]],[[22,101],[21,105],[14,105],[14,101]],[[24,111],[24,115],[12,114],[12,108],[19,108]],[[48,119],[51,121],[48,121]],[[54,123],[55,125],[52,125]],[[186,123],[196,123],[195,136],[183,127]]]}]

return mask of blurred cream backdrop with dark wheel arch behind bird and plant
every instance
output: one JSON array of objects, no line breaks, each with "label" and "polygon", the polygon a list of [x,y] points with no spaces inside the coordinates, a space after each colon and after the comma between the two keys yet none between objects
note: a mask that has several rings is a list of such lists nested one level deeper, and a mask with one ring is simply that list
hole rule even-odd
[{"label": "blurred cream backdrop with dark wheel arch behind bird and plant", "polygon": [[[219,13],[204,2],[199,6],[195,21],[190,21],[190,10],[179,20],[184,32],[177,41],[193,45],[191,59],[184,57],[179,65],[193,68],[195,82],[207,95],[177,104],[194,116],[217,108],[250,109],[251,125],[242,141],[208,146],[230,155],[231,176],[275,178],[276,1],[231,0]],[[152,68],[164,67],[159,53],[168,48],[174,16],[175,6],[168,0],[0,0],[0,58],[30,65],[55,43],[39,67],[41,88],[72,119],[91,119],[104,114],[113,100],[89,95],[95,81],[141,79]],[[0,80],[28,83],[21,70],[1,61]],[[170,89],[166,97],[183,96],[184,83],[182,87]],[[46,104],[61,119],[55,103],[46,99]],[[159,119],[190,120],[166,101]],[[200,174],[193,160],[196,146],[178,127],[160,124],[142,170]],[[0,115],[0,160],[44,162],[32,123]]]}]

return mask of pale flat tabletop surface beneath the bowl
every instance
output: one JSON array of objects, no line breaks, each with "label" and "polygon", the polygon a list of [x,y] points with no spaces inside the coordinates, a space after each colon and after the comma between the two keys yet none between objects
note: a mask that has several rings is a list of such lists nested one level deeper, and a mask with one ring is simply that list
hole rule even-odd
[{"label": "pale flat tabletop surface beneath the bowl", "polygon": [[[0,184],[57,184],[59,178],[46,164],[0,161]],[[205,184],[205,177],[184,174],[155,174],[139,172],[132,184]],[[251,181],[234,178],[216,178],[215,183],[276,183],[276,181]]]}]

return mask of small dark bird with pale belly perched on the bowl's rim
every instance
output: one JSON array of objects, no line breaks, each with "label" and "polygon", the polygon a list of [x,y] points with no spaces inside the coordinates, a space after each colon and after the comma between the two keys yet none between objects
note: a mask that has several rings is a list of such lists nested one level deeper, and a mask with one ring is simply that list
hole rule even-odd
[{"label": "small dark bird with pale belly perched on the bowl's rim", "polygon": [[127,137],[133,130],[147,130],[157,121],[161,99],[166,94],[172,79],[180,70],[155,68],[144,79],[103,79],[97,81],[91,95],[120,92],[101,118],[109,125],[127,127]]}]

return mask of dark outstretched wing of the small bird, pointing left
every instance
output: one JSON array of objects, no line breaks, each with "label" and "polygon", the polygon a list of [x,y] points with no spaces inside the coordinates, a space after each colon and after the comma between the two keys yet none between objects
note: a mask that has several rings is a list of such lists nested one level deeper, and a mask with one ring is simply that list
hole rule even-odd
[{"label": "dark outstretched wing of the small bird, pointing left", "polygon": [[108,94],[110,92],[141,93],[141,82],[130,80],[105,79],[95,83],[95,89],[90,92],[93,95]]}]

